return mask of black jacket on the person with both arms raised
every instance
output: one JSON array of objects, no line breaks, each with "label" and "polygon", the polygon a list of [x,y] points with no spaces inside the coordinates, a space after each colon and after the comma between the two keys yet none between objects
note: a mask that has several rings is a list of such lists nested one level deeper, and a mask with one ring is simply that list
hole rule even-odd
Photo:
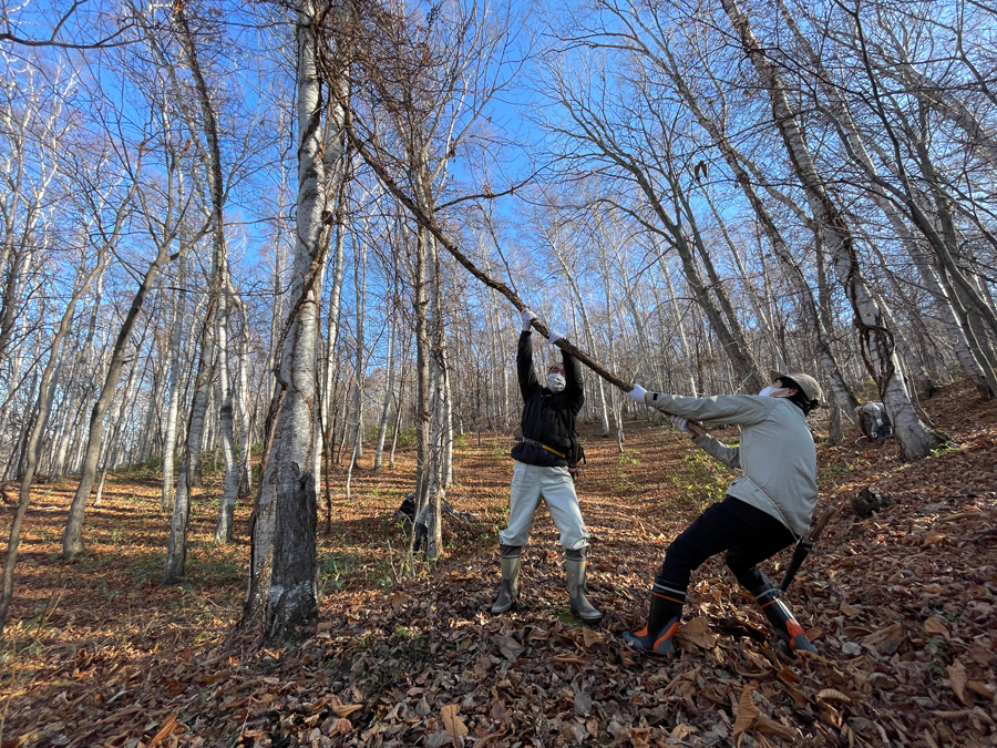
[{"label": "black jacket on the person with both arms raised", "polygon": [[[520,392],[524,402],[523,437],[567,454],[572,434],[575,432],[575,417],[582,410],[585,393],[582,391],[582,365],[564,351],[562,357],[565,388],[555,393],[542,387],[536,380],[533,367],[533,334],[520,335],[516,370],[520,375]],[[531,465],[567,465],[567,460],[525,441],[513,448],[512,455],[520,462]]]}]

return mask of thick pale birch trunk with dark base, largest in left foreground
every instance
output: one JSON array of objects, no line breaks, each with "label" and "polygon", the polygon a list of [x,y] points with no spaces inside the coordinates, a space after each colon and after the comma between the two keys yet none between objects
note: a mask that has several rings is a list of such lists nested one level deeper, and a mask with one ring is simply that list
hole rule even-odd
[{"label": "thick pale birch trunk with dark base, largest in left foreground", "polygon": [[270,406],[263,480],[253,522],[250,577],[244,627],[270,639],[308,636],[318,619],[316,591],[315,430],[320,395],[316,357],[320,299],[316,277],[323,265],[323,137],[319,76],[321,21],[314,0],[297,10],[298,201],[292,305],[280,339],[278,388]]}]

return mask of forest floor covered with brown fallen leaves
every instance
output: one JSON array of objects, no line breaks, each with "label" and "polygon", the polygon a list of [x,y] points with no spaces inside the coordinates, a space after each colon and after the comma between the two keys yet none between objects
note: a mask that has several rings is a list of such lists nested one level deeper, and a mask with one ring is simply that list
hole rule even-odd
[{"label": "forest floor covered with brown fallen leaves", "polygon": [[[40,484],[0,643],[0,742],[13,746],[994,746],[997,688],[997,403],[965,385],[924,402],[949,448],[914,464],[852,429],[819,444],[835,506],[788,594],[819,654],[790,659],[720,559],[695,576],[681,653],[635,653],[669,541],[730,472],[670,428],[627,423],[625,450],[585,433],[577,489],[593,534],[589,597],[574,619],[543,510],[514,612],[487,608],[507,516],[508,438],[455,449],[445,556],[402,578],[392,513],[412,455],[353,474],[320,511],[317,634],[294,648],[233,633],[248,560],[213,542],[217,493],[195,494],[187,576],[160,587],[168,515],[153,475],[109,479],[88,509],[88,553],[60,560],[72,481]],[[720,434],[736,439],[734,432]],[[370,455],[361,463],[369,465]],[[342,475],[331,477],[338,486]],[[892,503],[861,519],[875,485]],[[16,495],[13,485],[8,495]],[[13,505],[0,506],[4,524]],[[4,531],[6,534],[6,531]],[[6,553],[6,547],[0,549]],[[781,575],[791,551],[768,564]]]}]

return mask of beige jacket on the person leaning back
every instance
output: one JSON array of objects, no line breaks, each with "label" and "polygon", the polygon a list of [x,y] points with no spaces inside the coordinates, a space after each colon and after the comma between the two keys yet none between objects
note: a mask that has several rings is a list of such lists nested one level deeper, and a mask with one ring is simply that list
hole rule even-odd
[{"label": "beige jacket on the person leaning back", "polygon": [[785,398],[757,395],[683,398],[648,392],[645,402],[675,416],[740,426],[739,447],[709,434],[693,441],[741,471],[728,495],[771,514],[796,536],[806,533],[818,499],[816,449],[802,410]]}]

